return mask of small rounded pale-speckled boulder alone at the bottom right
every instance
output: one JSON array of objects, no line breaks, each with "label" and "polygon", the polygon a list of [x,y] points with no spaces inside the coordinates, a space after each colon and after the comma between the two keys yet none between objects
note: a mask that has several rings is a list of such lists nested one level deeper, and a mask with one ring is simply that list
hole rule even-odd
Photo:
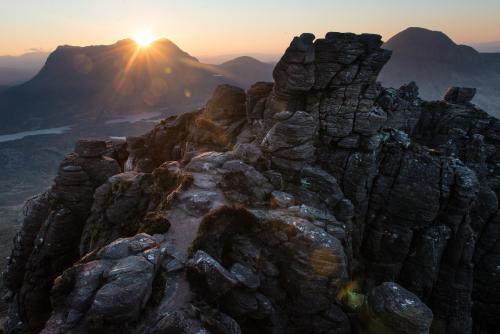
[{"label": "small rounded pale-speckled boulder alone at the bottom right", "polygon": [[366,333],[429,333],[432,311],[396,283],[386,282],[373,289],[363,307]]}]

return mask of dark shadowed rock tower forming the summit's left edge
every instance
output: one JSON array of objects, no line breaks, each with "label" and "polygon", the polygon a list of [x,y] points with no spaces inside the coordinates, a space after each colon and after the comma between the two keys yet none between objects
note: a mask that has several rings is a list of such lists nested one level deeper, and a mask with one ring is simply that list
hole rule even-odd
[{"label": "dark shadowed rock tower forming the summit's left edge", "polygon": [[43,328],[51,312],[53,279],[79,258],[77,245],[90,215],[94,189],[120,172],[115,160],[101,157],[104,151],[97,155],[106,149],[104,141],[84,140],[77,147],[91,157],[68,155],[54,186],[25,209],[4,275],[12,295],[7,333]]}]

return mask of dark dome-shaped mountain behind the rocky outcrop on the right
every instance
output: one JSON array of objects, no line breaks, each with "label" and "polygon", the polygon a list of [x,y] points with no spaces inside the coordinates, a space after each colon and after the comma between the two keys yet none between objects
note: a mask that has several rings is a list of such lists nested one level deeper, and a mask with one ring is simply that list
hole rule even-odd
[{"label": "dark dome-shaped mountain behind the rocky outcrop on the right", "polygon": [[500,54],[484,54],[458,45],[439,31],[408,28],[389,39],[392,50],[379,80],[399,87],[415,81],[425,99],[440,99],[449,86],[478,89],[475,103],[500,116]]}]

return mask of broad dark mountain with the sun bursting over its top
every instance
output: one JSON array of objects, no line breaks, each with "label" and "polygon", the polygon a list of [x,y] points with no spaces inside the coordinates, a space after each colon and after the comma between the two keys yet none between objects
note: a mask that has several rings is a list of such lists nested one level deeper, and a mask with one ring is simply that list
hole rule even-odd
[{"label": "broad dark mountain with the sun bursting over its top", "polygon": [[[252,71],[245,72],[241,66],[250,63]],[[266,70],[271,66],[247,58],[220,67],[203,64],[167,39],[148,48],[130,39],[60,46],[32,80],[0,93],[0,133],[192,108],[218,84],[247,86],[270,78]]]}]

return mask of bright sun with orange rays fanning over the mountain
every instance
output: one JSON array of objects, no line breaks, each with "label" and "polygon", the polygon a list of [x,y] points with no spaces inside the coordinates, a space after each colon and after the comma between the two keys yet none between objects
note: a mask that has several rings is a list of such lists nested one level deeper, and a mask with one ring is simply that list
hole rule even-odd
[{"label": "bright sun with orange rays fanning over the mountain", "polygon": [[133,94],[143,100],[142,106],[134,106],[136,109],[160,106],[167,99],[193,100],[204,75],[221,74],[218,67],[200,63],[170,40],[146,30],[123,40],[105,56],[120,59],[116,64],[120,70],[110,81],[110,110],[123,107],[123,101]]}]

